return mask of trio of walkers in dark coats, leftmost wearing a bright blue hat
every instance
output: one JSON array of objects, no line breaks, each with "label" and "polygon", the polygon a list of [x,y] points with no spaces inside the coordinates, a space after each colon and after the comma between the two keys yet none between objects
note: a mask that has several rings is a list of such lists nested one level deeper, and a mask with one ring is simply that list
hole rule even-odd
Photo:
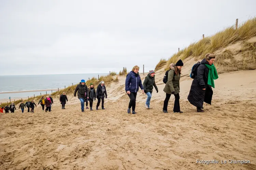
[{"label": "trio of walkers in dark coats, leftmost wearing a bright blue hat", "polygon": [[99,109],[100,102],[101,102],[101,109],[104,108],[104,98],[108,98],[106,87],[104,81],[101,81],[100,84],[97,87],[97,90],[94,88],[94,84],[90,83],[90,87],[88,89],[87,85],[85,84],[85,80],[81,80],[81,82],[76,86],[74,97],[77,97],[81,102],[81,110],[84,112],[84,103],[86,102],[86,109],[89,109],[88,106],[88,100],[90,103],[90,111],[93,111],[93,101],[98,99],[96,110]]}]

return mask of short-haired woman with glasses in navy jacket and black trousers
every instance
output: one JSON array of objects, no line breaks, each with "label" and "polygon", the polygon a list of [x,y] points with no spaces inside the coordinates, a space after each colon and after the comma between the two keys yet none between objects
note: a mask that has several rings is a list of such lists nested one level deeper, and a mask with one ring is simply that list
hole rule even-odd
[{"label": "short-haired woman with glasses in navy jacket and black trousers", "polygon": [[130,102],[127,110],[127,113],[129,114],[131,113],[131,107],[132,107],[132,114],[136,114],[135,106],[136,106],[136,97],[137,97],[137,92],[139,91],[139,87],[141,88],[142,93],[144,93],[143,84],[141,82],[141,78],[139,75],[139,69],[140,69],[139,66],[134,66],[132,68],[132,71],[126,75],[125,91],[130,98]]}]

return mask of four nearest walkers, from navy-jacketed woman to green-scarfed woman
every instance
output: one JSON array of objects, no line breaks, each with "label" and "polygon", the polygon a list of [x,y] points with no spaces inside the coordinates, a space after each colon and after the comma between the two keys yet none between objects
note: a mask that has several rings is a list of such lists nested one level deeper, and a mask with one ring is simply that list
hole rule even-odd
[{"label": "four nearest walkers, from navy-jacketed woman to green-scarfed woman", "polygon": [[[205,58],[195,64],[191,69],[190,77],[193,78],[193,82],[189,91],[189,95],[187,97],[188,101],[196,106],[197,112],[204,112],[203,102],[211,104],[212,100],[212,87],[214,88],[214,80],[218,78],[217,70],[214,66],[215,55],[214,54],[206,54]],[[171,63],[169,65],[170,70],[166,71],[165,77],[163,78],[163,82],[166,84],[163,91],[166,93],[166,98],[163,102],[163,113],[168,113],[168,102],[170,100],[171,95],[174,95],[174,105],[173,112],[174,113],[183,113],[180,109],[180,78],[181,78],[181,70],[183,67],[182,60],[177,61],[177,63]],[[146,76],[143,84],[139,75],[139,66],[134,66],[132,71],[130,71],[126,76],[125,81],[125,91],[130,98],[130,102],[128,105],[127,113],[136,114],[136,97],[139,88],[141,88],[142,93],[145,92],[147,95],[145,108],[151,109],[150,100],[152,98],[153,86],[158,93],[158,88],[155,83],[155,71],[150,70],[148,75]],[[132,111],[131,111],[132,108]]]}]

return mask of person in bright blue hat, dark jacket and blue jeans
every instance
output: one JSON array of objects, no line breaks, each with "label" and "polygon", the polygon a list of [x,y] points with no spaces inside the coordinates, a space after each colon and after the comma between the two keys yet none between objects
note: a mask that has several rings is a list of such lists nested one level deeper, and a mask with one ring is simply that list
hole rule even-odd
[{"label": "person in bright blue hat, dark jacket and blue jeans", "polygon": [[[77,92],[77,97],[81,102],[81,110],[82,110],[82,112],[84,112],[85,97],[89,93],[88,87],[85,84],[85,80],[81,80],[81,82],[79,84],[77,84],[77,86],[75,88],[74,97],[76,96],[76,92]],[[89,97],[87,96],[86,98],[88,99]]]}]

